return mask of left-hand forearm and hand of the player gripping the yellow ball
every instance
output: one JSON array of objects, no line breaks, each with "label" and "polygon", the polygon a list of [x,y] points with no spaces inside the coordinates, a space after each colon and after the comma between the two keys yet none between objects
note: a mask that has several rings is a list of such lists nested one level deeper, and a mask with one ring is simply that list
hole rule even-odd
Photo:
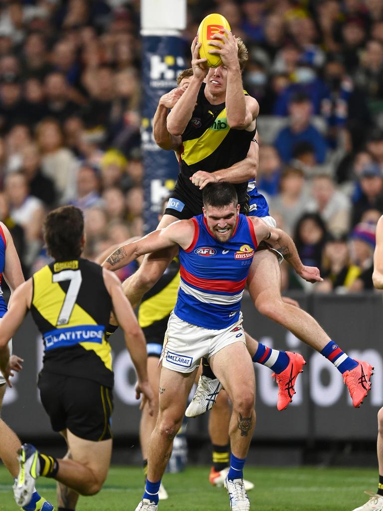
[{"label": "left-hand forearm and hand of the player gripping the yellow ball", "polygon": [[167,130],[172,135],[182,135],[187,123],[190,119],[192,119],[192,113],[196,106],[198,92],[200,91],[201,84],[208,72],[208,68],[204,65],[206,59],[199,58],[200,47],[201,44],[197,43],[197,37],[195,37],[192,43],[193,77],[190,80],[189,86],[181,98],[177,101],[166,120]]}]

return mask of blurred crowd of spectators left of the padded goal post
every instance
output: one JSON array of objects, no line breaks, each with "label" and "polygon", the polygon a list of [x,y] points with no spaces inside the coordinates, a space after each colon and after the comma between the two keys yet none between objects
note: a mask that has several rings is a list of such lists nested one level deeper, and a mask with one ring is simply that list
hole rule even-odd
[{"label": "blurred crowd of spectators left of the padded goal post", "polygon": [[26,275],[47,211],[85,213],[89,258],[142,233],[139,2],[0,2],[0,219]]}]

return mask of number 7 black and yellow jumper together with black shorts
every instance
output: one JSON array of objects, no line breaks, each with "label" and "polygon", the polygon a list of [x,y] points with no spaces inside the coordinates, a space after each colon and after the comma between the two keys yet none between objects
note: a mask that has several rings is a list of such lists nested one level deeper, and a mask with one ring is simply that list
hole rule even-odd
[{"label": "number 7 black and yellow jumper together with black shorts", "polygon": [[85,259],[55,262],[33,275],[32,317],[44,342],[42,404],[55,431],[89,440],[111,437],[112,309],[102,268]]}]

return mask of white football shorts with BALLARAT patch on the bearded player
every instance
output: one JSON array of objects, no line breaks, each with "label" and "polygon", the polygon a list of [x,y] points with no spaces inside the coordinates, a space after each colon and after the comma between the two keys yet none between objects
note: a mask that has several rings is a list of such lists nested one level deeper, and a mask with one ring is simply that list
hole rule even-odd
[{"label": "white football shorts with BALLARAT patch on the bearded player", "polygon": [[192,373],[202,357],[212,355],[234,342],[246,344],[242,326],[242,312],[238,321],[222,330],[208,330],[187,323],[171,313],[161,354],[162,366],[178,373]]}]

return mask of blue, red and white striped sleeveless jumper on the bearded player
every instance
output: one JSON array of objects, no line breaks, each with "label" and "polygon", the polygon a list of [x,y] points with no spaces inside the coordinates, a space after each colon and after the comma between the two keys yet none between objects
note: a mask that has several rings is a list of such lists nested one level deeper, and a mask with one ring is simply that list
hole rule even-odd
[{"label": "blue, red and white striped sleeveless jumper on the bearded player", "polygon": [[174,313],[209,330],[234,324],[257,241],[253,224],[238,215],[233,236],[222,243],[210,232],[203,215],[192,218],[192,244],[179,250],[181,282]]}]

